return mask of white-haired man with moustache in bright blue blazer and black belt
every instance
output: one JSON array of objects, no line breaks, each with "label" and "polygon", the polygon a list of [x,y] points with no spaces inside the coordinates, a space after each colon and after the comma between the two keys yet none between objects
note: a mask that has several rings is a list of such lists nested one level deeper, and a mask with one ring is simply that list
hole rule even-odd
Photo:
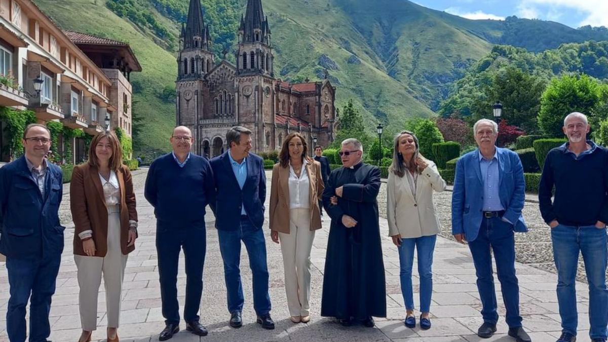
[{"label": "white-haired man with moustache in bright blue blazer and black belt", "polygon": [[489,338],[498,321],[492,257],[494,252],[509,335],[531,341],[519,315],[519,285],[515,274],[514,231],[527,231],[522,209],[525,180],[516,153],[496,147],[498,125],[482,119],[473,127],[478,148],[458,159],[452,193],[452,234],[469,242],[482,301],[483,324],[477,335]]}]

